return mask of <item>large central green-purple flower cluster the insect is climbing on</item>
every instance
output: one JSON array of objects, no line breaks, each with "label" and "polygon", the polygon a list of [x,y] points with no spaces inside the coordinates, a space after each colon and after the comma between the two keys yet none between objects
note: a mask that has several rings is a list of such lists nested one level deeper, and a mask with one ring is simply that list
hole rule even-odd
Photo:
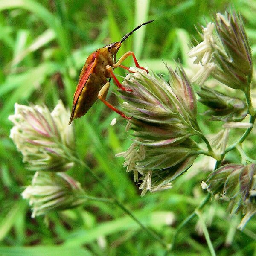
[{"label": "large central green-purple flower cluster the insect is climbing on", "polygon": [[[141,180],[142,195],[147,190],[170,187],[170,182],[185,172],[195,160],[197,144],[190,139],[199,131],[195,93],[183,69],[169,68],[170,81],[137,70],[128,74],[121,91],[122,110],[132,116],[128,130],[134,143],[124,157],[127,172]],[[140,176],[140,177],[139,177]]]}]

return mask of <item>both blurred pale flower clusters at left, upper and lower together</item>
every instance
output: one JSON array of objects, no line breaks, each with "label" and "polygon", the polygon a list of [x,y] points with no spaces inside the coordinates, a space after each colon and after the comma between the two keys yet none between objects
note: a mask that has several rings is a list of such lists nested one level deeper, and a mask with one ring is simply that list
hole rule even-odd
[{"label": "both blurred pale flower clusters at left, upper and lower together", "polygon": [[31,185],[23,191],[29,199],[32,217],[53,210],[68,209],[84,202],[80,184],[62,173],[73,166],[73,127],[68,125],[69,111],[61,101],[52,112],[46,106],[15,105],[10,137],[23,155],[27,168],[36,171]]}]

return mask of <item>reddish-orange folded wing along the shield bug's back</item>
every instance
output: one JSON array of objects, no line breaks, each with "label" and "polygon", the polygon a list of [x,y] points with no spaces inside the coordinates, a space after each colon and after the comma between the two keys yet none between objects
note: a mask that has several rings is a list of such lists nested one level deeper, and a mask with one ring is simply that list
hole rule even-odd
[{"label": "reddish-orange folded wing along the shield bug's back", "polygon": [[80,76],[79,76],[79,82],[76,87],[76,92],[74,94],[74,100],[73,100],[73,106],[72,106],[72,113],[70,116],[69,124],[73,121],[74,113],[76,111],[76,103],[78,102],[79,96],[86,85],[87,80],[90,77],[90,74],[93,71],[93,68],[96,65],[96,52],[93,52],[86,60],[84,67],[81,70]]}]

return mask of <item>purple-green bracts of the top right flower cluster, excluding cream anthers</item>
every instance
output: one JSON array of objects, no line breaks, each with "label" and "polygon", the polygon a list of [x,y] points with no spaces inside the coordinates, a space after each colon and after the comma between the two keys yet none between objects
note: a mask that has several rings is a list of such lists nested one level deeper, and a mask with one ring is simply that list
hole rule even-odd
[{"label": "purple-green bracts of the top right flower cluster, excluding cream anthers", "polygon": [[212,75],[233,89],[245,90],[252,76],[252,56],[243,21],[235,13],[218,13],[215,24],[224,51],[214,52],[217,69]]}]

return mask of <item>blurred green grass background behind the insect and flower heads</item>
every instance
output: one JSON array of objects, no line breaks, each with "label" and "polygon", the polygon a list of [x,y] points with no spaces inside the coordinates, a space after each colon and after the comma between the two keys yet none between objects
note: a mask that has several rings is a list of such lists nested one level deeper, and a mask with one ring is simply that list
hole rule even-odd
[{"label": "blurred green grass background behind the insect and flower heads", "polygon": [[[256,54],[256,1],[254,0],[0,0],[0,255],[164,255],[165,251],[115,205],[88,201],[84,207],[30,218],[27,201],[20,197],[32,173],[22,163],[9,131],[8,116],[15,102],[45,104],[53,109],[58,99],[71,108],[78,76],[87,56],[97,48],[119,41],[135,26],[139,29],[123,44],[117,58],[128,50],[139,63],[156,73],[167,74],[164,63],[179,60],[189,68],[187,52],[193,37],[200,41],[195,25],[206,24],[215,12],[233,7],[240,12]],[[131,58],[132,59],[132,58]],[[134,65],[129,58],[126,65]],[[116,69],[118,75],[125,72]],[[121,79],[121,78],[119,78]],[[116,88],[111,85],[111,91]],[[108,99],[114,105],[114,93]],[[199,105],[199,112],[203,112]],[[117,124],[110,126],[117,117]],[[199,118],[205,125],[204,117]],[[75,121],[76,149],[117,197],[148,227],[170,242],[175,229],[200,204],[214,163],[199,157],[189,171],[172,183],[173,188],[148,192],[140,197],[132,174],[114,155],[131,144],[126,122],[97,102],[86,116]],[[202,127],[214,132],[216,124]],[[217,125],[218,126],[218,125]],[[255,131],[252,132],[255,134]],[[250,137],[253,138],[253,135]],[[255,136],[254,136],[255,138]],[[255,139],[247,143],[255,145]],[[250,152],[252,155],[254,151]],[[238,161],[236,152],[230,160]],[[70,172],[89,195],[108,197],[81,167]],[[203,216],[217,255],[256,255],[256,219],[243,232],[236,230],[241,215],[230,216],[227,204],[208,203]],[[194,218],[178,236],[173,255],[209,255],[201,226]]]}]

